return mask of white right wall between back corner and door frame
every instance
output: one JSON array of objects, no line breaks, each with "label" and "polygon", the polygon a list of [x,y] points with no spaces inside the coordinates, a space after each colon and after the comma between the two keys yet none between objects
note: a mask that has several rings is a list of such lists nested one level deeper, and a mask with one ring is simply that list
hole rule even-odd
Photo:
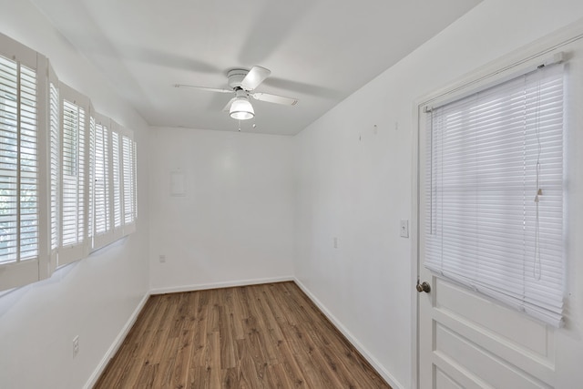
[{"label": "white right wall between back corner and door frame", "polygon": [[414,101],[581,16],[580,0],[486,0],[294,139],[296,277],[394,386],[413,383],[413,242],[399,220]]}]

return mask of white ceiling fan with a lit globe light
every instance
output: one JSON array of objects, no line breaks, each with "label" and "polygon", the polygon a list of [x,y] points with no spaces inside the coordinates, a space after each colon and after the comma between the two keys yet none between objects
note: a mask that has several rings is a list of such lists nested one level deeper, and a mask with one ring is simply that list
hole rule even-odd
[{"label": "white ceiling fan with a lit globe light", "polygon": [[255,116],[255,111],[249,97],[253,97],[259,101],[267,101],[268,103],[281,104],[285,106],[295,106],[298,100],[292,97],[283,97],[278,95],[271,95],[270,93],[254,92],[256,87],[259,87],[267,77],[271,75],[271,70],[265,67],[251,67],[251,70],[246,69],[231,69],[227,73],[228,85],[230,89],[220,89],[215,87],[196,87],[193,85],[175,84],[174,87],[193,87],[199,90],[206,90],[209,92],[231,93],[235,97],[231,98],[229,103],[223,108],[224,111],[229,111],[230,117],[247,120]]}]

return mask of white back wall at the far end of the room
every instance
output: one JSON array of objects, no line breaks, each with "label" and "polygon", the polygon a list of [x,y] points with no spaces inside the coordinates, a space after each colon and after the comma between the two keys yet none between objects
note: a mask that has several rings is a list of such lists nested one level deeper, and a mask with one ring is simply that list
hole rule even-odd
[{"label": "white back wall at the far end of the room", "polygon": [[292,138],[155,128],[152,145],[153,292],[292,277]]}]

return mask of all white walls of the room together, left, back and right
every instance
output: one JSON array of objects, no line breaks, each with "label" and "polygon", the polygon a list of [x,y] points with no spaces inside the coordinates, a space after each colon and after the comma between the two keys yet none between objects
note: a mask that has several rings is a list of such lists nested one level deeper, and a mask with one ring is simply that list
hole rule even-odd
[{"label": "all white walls of the room together, left, back and right", "polygon": [[[412,241],[399,220],[412,207],[413,102],[583,15],[580,0],[486,0],[296,138],[170,128],[150,137],[34,6],[1,7],[2,33],[49,56],[61,79],[136,131],[140,164],[136,234],[0,296],[6,388],[83,386],[150,287],[292,275],[395,387],[410,387]],[[178,169],[182,198],[169,196]]]}]

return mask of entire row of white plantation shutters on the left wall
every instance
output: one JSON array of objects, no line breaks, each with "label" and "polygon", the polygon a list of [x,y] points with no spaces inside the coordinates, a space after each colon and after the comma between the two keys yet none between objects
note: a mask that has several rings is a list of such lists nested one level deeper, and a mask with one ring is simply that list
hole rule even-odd
[{"label": "entire row of white plantation shutters on the left wall", "polygon": [[0,291],[135,230],[136,163],[130,130],[0,34]]}]

